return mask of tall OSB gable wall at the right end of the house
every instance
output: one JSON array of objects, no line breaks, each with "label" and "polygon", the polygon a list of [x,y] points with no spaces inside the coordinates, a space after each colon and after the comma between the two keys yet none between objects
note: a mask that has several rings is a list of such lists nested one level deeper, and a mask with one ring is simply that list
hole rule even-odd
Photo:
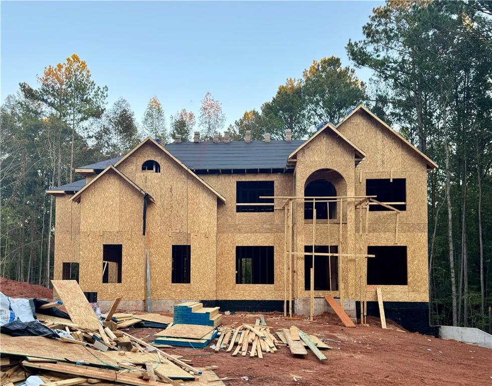
[{"label": "tall OSB gable wall at the right end of the house", "polygon": [[[407,144],[362,110],[337,128],[357,144],[366,158],[355,169],[355,195],[365,195],[367,178],[406,178],[406,211],[400,214],[395,243],[395,212],[369,212],[365,237],[365,210],[355,212],[356,253],[367,253],[367,245],[406,245],[408,285],[382,285],[385,301],[427,302],[427,171],[426,162]],[[362,219],[360,219],[362,216]],[[360,221],[362,220],[362,221]],[[359,234],[361,225],[362,234]],[[365,279],[365,262],[354,261],[354,269]],[[360,292],[357,291],[357,297]],[[376,301],[375,286],[367,286],[367,301]]]}]

